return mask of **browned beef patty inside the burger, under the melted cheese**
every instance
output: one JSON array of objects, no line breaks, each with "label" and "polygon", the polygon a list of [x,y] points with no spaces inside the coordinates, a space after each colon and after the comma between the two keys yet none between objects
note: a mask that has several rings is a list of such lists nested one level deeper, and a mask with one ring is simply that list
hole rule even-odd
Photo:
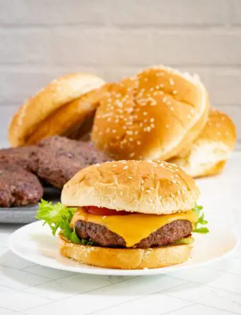
[{"label": "browned beef patty inside the burger, under the melted cheese", "polygon": [[[75,225],[76,234],[79,238],[92,238],[94,243],[103,247],[126,247],[122,236],[110,231],[104,225],[77,221]],[[140,243],[134,245],[138,248],[149,248],[162,245],[170,245],[183,237],[191,234],[191,223],[187,220],[177,220],[151,233],[147,238],[143,238]]]}]

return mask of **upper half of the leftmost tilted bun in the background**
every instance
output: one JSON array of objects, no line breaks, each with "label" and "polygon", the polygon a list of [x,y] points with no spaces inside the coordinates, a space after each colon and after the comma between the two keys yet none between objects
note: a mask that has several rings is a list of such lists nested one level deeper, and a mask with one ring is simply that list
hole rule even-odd
[{"label": "upper half of the leftmost tilted bun in the background", "polygon": [[103,79],[94,74],[76,72],[52,81],[26,101],[12,118],[8,139],[12,146],[32,144],[32,133],[55,110],[78,99],[81,95],[103,85]]}]

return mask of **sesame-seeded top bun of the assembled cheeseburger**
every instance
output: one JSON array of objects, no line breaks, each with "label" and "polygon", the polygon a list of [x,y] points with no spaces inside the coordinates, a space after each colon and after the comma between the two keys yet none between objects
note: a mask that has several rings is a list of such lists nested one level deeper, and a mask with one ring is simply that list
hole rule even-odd
[{"label": "sesame-seeded top bun of the assembled cheeseburger", "polygon": [[174,164],[113,161],[78,172],[63,187],[61,202],[71,207],[171,214],[190,210],[198,196],[193,179]]}]

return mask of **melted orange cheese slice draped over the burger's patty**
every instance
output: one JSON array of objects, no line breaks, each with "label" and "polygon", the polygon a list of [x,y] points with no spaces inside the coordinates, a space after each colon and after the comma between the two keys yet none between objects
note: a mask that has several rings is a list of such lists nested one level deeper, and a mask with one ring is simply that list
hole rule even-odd
[{"label": "melted orange cheese slice draped over the burger's patty", "polygon": [[125,216],[96,216],[78,208],[70,225],[73,228],[79,220],[105,225],[110,231],[122,236],[127,247],[132,247],[168,223],[177,220],[195,223],[197,219],[192,210],[167,215],[134,213]]}]

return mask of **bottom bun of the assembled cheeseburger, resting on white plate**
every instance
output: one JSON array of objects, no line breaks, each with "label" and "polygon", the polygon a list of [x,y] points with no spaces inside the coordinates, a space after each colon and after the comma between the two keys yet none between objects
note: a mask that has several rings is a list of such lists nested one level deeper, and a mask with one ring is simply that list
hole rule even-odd
[{"label": "bottom bun of the assembled cheeseburger, resting on white plate", "polygon": [[61,255],[80,263],[103,268],[143,269],[177,265],[187,261],[192,244],[140,248],[109,248],[70,243],[59,234]]}]

